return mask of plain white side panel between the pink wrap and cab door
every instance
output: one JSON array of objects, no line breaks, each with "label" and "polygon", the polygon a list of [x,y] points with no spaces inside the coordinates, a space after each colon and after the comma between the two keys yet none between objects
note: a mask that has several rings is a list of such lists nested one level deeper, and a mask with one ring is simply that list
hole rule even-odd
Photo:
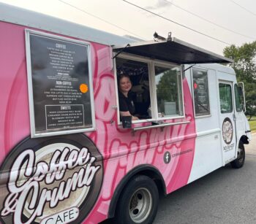
[{"label": "plain white side panel between the pink wrap and cab door", "polygon": [[[203,67],[198,68],[206,70]],[[221,149],[222,136],[219,123],[219,93],[216,70],[208,69],[207,74],[210,115],[195,118],[197,139],[195,143],[195,159],[189,182],[203,177],[224,165]],[[188,74],[188,76],[190,75]]]}]

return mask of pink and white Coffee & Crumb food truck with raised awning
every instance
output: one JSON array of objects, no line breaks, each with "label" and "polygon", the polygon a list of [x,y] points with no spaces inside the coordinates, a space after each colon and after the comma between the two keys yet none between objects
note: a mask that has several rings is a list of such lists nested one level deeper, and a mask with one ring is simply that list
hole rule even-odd
[{"label": "pink and white Coffee & Crumb food truck with raised awning", "polygon": [[[161,194],[243,166],[251,134],[229,58],[7,4],[0,34],[1,223],[152,223]],[[139,120],[121,119],[119,74]]]}]

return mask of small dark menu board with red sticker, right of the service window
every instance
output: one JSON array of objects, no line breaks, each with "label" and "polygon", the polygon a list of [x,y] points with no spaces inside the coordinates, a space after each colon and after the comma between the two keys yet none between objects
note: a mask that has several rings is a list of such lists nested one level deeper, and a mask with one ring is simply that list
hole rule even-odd
[{"label": "small dark menu board with red sticker, right of the service window", "polygon": [[195,115],[210,115],[207,71],[192,69]]}]

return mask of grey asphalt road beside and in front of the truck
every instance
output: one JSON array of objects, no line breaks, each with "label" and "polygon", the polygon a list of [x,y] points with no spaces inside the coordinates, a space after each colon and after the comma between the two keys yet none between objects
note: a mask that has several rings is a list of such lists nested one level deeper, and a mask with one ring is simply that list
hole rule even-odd
[{"label": "grey asphalt road beside and in front of the truck", "polygon": [[256,223],[256,135],[241,169],[225,166],[161,198],[154,224]]}]

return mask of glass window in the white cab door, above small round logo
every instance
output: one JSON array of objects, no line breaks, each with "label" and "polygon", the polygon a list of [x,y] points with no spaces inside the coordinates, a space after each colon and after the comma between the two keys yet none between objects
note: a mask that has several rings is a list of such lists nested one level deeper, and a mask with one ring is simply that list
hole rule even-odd
[{"label": "glass window in the white cab door, above small round logo", "polygon": [[233,112],[232,88],[231,85],[219,83],[220,111],[222,113]]}]

